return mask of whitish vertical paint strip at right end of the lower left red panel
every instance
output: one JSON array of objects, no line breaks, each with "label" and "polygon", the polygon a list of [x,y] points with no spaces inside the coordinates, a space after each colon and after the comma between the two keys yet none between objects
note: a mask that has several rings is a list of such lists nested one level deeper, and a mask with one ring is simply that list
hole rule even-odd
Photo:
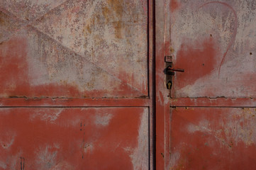
[{"label": "whitish vertical paint strip at right end of the lower left red panel", "polygon": [[138,134],[138,147],[133,150],[130,158],[133,162],[133,169],[148,169],[149,145],[148,145],[148,110],[145,109],[141,116],[140,129]]}]

